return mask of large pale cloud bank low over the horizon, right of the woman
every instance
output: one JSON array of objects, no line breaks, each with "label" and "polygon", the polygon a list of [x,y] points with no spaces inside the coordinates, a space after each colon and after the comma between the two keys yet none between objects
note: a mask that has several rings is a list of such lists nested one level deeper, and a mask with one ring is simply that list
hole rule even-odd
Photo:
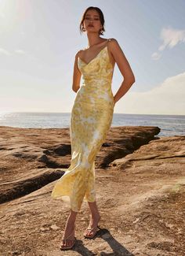
[{"label": "large pale cloud bank low over the horizon, right of the woman", "polygon": [[184,98],[185,72],[167,78],[150,91],[128,91],[114,106],[114,113],[185,115]]}]

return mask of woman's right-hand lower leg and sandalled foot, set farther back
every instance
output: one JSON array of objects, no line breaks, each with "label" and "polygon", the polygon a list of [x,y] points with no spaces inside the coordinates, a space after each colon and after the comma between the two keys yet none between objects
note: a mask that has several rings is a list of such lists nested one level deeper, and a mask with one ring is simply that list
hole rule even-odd
[{"label": "woman's right-hand lower leg and sandalled foot, set farther back", "polygon": [[95,202],[88,202],[91,211],[91,218],[88,228],[93,228],[92,231],[85,231],[85,236],[93,236],[96,233],[98,222],[100,221],[100,213]]}]

